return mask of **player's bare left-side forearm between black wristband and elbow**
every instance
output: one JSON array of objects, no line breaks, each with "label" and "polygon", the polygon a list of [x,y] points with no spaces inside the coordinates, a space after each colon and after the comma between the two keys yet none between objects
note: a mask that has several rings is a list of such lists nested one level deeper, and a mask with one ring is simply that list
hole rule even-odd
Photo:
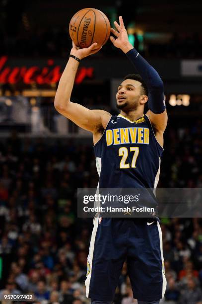
[{"label": "player's bare left-side forearm between black wristband and elbow", "polygon": [[57,108],[66,108],[70,101],[73,89],[74,79],[78,69],[79,62],[69,58],[67,66],[59,81],[58,89],[55,96],[54,105]]}]

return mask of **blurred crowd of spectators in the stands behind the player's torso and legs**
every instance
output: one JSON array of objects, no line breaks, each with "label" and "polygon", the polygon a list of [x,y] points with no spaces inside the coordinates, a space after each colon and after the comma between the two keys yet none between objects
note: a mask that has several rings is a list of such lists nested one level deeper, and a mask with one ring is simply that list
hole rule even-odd
[{"label": "blurred crowd of spectators in the stands behind the player's torso and legs", "polygon": [[[84,281],[92,219],[77,218],[77,187],[97,187],[93,149],[76,139],[0,142],[0,296],[87,304]],[[202,187],[201,121],[168,126],[160,187]],[[162,218],[167,288],[162,304],[202,302],[202,219]],[[115,304],[132,304],[127,265]]]}]

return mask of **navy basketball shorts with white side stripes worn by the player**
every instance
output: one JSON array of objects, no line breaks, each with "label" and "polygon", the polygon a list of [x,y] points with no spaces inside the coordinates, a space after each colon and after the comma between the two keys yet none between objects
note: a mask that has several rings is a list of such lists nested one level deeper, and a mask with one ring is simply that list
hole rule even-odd
[{"label": "navy basketball shorts with white side stripes worn by the player", "polygon": [[135,299],[154,301],[164,297],[166,279],[159,223],[152,219],[95,217],[86,297],[113,301],[125,261]]}]

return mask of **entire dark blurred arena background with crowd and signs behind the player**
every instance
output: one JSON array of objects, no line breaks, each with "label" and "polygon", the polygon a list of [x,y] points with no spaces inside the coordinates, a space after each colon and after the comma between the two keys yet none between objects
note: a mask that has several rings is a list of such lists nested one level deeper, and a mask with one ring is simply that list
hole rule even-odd
[{"label": "entire dark blurred arena background with crowd and signs behind the player", "polygon": [[[111,24],[122,15],[130,41],[164,81],[169,120],[158,186],[202,187],[202,2],[166,2],[0,0],[0,296],[89,303],[92,219],[77,219],[76,189],[97,186],[92,136],[54,108],[77,10],[98,8]],[[117,83],[134,72],[108,41],[81,61],[71,99],[117,113]],[[161,303],[202,304],[202,220],[162,218],[161,228]],[[136,303],[126,265],[114,303]]]}]

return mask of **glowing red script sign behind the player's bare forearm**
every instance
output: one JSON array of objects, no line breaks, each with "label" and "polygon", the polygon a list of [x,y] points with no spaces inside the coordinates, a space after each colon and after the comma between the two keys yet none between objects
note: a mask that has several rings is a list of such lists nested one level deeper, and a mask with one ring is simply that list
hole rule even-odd
[{"label": "glowing red script sign behind the player's bare forearm", "polygon": [[[11,68],[7,66],[7,60],[7,56],[0,57],[0,83],[51,84],[58,82],[62,75],[62,67],[55,66],[52,59],[48,60],[47,65],[42,68],[38,66]],[[85,77],[92,78],[93,71],[93,68],[79,68],[75,83],[81,83]]]}]

